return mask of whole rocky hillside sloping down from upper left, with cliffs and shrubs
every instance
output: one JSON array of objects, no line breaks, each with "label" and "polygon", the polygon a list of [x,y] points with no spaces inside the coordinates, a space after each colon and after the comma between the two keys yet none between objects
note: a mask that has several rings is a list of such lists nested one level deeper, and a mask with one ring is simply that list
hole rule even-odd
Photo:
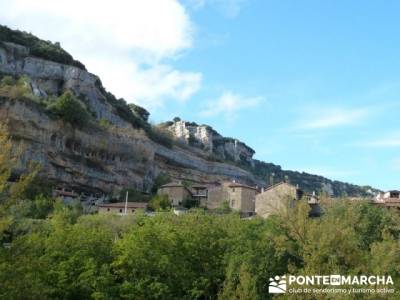
[{"label": "whole rocky hillside sloping down from upper left, with cliffs and shrubs", "polygon": [[55,185],[101,193],[124,187],[150,191],[166,174],[259,186],[273,177],[333,196],[375,191],[255,160],[249,146],[207,125],[175,119],[152,126],[145,108],[106,91],[58,43],[5,26],[0,26],[0,80],[0,122],[24,149],[16,172],[35,160]]}]

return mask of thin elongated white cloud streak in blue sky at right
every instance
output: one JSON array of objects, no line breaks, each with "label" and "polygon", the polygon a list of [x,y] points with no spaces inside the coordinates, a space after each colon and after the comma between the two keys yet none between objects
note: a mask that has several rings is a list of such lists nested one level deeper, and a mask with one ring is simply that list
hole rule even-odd
[{"label": "thin elongated white cloud streak in blue sky at right", "polygon": [[366,108],[326,108],[305,114],[297,124],[301,129],[326,129],[345,125],[354,125],[370,114]]}]

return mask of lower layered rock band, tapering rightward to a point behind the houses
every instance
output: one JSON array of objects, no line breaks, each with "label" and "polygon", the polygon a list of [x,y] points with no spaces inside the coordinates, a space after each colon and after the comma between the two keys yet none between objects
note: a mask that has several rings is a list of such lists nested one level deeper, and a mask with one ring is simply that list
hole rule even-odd
[{"label": "lower layered rock band, tapering rightward to a point behind the houses", "polygon": [[131,187],[149,191],[161,172],[198,182],[237,178],[260,183],[238,167],[156,144],[142,130],[76,129],[51,119],[34,105],[15,100],[0,101],[0,119],[25,150],[22,167],[29,160],[37,161],[51,181],[78,190],[111,193]]}]

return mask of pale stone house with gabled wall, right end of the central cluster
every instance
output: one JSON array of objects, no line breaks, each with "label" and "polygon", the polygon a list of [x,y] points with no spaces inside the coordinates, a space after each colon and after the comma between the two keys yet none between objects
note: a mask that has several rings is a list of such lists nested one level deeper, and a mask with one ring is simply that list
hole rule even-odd
[{"label": "pale stone house with gabled wall, right end of the central cluster", "polygon": [[321,208],[318,198],[305,194],[297,186],[287,182],[274,184],[256,196],[255,212],[257,215],[266,218],[271,214],[276,214],[289,207],[293,207],[297,201],[304,199],[310,205],[310,216],[319,216]]}]

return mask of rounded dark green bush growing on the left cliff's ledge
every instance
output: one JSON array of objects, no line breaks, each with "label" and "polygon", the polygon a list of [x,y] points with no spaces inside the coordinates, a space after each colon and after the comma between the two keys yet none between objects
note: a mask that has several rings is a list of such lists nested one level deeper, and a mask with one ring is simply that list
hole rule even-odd
[{"label": "rounded dark green bush growing on the left cliff's ledge", "polygon": [[70,92],[65,92],[50,105],[50,111],[73,126],[83,127],[89,121],[86,108]]}]

